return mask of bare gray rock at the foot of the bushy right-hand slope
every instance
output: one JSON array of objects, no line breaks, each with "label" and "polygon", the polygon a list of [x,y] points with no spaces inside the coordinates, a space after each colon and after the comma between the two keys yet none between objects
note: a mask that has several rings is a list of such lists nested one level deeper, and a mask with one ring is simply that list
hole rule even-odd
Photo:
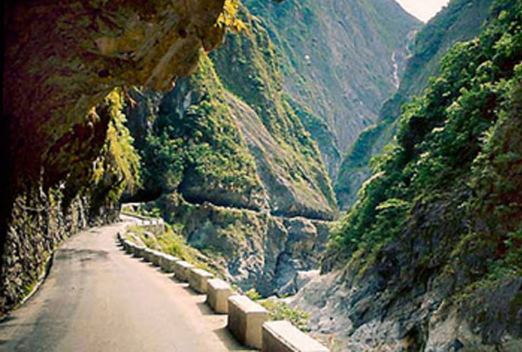
[{"label": "bare gray rock at the foot of the bushy right-hand slope", "polygon": [[522,351],[522,278],[467,305],[443,299],[436,284],[427,290],[411,280],[386,290],[377,276],[353,272],[317,276],[289,299],[310,314],[313,331],[335,337],[339,351]]}]

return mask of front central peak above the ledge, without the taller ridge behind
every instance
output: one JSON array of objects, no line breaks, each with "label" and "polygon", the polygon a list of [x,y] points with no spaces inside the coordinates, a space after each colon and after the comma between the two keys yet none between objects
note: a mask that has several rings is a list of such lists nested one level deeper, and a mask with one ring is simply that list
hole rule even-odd
[{"label": "front central peak above the ledge, without the taller ridge behind", "polygon": [[333,218],[329,178],[299,120],[283,110],[279,118],[288,124],[287,131],[280,131],[285,125],[264,123],[221,85],[210,60],[200,62],[199,72],[161,98],[137,91],[132,97],[139,103],[127,115],[142,113],[143,106],[152,112],[144,119],[153,121],[150,129],[141,125],[147,135],[136,140],[148,180],[143,193],[177,191],[192,203]]}]

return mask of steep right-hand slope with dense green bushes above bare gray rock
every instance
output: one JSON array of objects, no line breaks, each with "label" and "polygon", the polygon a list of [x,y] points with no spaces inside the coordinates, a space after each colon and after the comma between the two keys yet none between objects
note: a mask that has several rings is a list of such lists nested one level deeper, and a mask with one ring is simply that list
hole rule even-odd
[{"label": "steep right-hand slope with dense green bushes above bare gray rock", "polygon": [[342,347],[522,349],[522,3],[490,18],[405,108],[294,301]]}]

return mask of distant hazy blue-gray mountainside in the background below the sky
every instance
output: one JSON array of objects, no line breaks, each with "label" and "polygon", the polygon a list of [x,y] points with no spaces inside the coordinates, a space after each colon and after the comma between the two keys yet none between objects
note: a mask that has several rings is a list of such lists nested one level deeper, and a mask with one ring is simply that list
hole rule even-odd
[{"label": "distant hazy blue-gray mountainside in the background below the sky", "polygon": [[420,22],[392,0],[244,3],[268,28],[285,92],[320,118],[302,120],[333,177],[395,92],[394,64],[402,73],[406,37]]}]

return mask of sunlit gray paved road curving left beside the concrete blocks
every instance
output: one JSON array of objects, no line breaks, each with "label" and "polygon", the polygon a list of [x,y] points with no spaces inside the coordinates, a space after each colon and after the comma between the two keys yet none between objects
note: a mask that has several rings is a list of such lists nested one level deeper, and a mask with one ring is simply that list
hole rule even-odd
[{"label": "sunlit gray paved road curving left beside the concrete blocks", "polygon": [[81,232],[56,251],[38,292],[1,321],[0,351],[247,351],[205,296],[117,246],[123,226]]}]

